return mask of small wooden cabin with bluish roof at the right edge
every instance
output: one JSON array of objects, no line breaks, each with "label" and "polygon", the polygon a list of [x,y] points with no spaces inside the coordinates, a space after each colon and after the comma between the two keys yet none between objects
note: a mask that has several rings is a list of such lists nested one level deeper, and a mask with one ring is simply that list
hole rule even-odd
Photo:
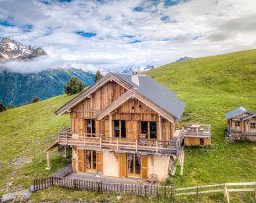
[{"label": "small wooden cabin with bluish roof at the right edge", "polygon": [[229,140],[256,141],[256,113],[244,107],[234,109],[225,114]]}]

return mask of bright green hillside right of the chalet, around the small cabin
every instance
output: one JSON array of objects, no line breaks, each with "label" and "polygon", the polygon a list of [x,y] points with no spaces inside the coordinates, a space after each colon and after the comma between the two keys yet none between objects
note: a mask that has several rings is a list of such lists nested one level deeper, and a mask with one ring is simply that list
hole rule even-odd
[{"label": "bright green hillside right of the chalet, around the small cabin", "polygon": [[212,146],[187,149],[176,185],[256,180],[256,144],[228,142],[224,114],[256,110],[256,50],[171,63],[146,73],[186,102],[183,121],[212,125]]}]

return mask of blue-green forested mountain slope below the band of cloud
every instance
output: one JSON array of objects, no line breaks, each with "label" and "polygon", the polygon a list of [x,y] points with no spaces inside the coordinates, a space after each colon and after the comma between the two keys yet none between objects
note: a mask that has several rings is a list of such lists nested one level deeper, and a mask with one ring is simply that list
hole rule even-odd
[{"label": "blue-green forested mountain slope below the band of cloud", "polygon": [[33,97],[44,100],[63,94],[63,87],[72,76],[86,86],[94,83],[95,75],[81,69],[53,69],[30,74],[0,70],[0,101],[4,105],[20,106],[31,102]]}]

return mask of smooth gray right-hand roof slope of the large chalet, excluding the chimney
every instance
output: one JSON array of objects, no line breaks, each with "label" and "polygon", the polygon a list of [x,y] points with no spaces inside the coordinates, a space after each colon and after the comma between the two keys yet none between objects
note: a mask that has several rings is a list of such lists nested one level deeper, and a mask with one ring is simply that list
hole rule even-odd
[{"label": "smooth gray right-hand roof slope of the large chalet, excluding the chimney", "polygon": [[117,73],[112,74],[133,86],[133,88],[136,89],[140,94],[160,106],[160,108],[164,109],[177,119],[181,118],[184,112],[185,103],[180,101],[176,97],[176,94],[167,87],[145,75],[138,75],[139,85],[136,85],[131,80],[132,75]]}]

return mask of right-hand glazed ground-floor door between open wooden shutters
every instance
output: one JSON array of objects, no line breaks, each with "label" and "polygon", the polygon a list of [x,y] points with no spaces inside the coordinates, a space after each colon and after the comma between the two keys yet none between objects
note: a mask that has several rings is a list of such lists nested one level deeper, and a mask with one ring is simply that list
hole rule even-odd
[{"label": "right-hand glazed ground-floor door between open wooden shutters", "polygon": [[140,154],[127,154],[127,172],[129,177],[141,177]]}]

